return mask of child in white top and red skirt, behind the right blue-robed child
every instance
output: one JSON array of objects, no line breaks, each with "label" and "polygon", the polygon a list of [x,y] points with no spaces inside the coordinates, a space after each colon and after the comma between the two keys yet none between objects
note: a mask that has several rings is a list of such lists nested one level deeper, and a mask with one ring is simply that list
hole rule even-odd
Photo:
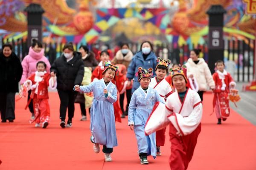
[{"label": "child in white top and red skirt, behind the right blue-robed child", "polygon": [[[165,76],[168,73],[168,66],[171,63],[169,59],[164,60],[157,58],[156,77],[151,79],[149,87],[154,88],[158,94],[166,101],[167,97],[172,94],[172,88],[166,81]],[[166,127],[156,132],[157,156],[161,156],[160,146],[165,143]]]}]

